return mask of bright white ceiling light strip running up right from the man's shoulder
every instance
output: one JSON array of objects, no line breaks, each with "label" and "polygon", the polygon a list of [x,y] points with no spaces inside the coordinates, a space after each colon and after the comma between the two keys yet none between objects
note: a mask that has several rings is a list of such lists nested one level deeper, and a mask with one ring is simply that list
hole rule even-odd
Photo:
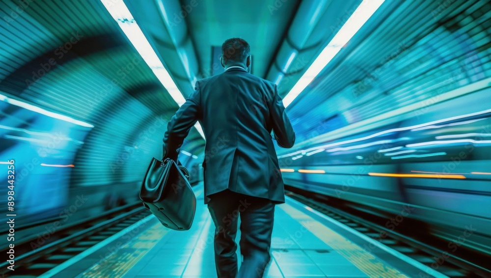
[{"label": "bright white ceiling light strip running up right from the man's shoulder", "polygon": [[309,66],[299,81],[293,86],[290,92],[283,99],[285,107],[290,105],[295,98],[307,87],[322,69],[336,56],[336,54],[348,43],[355,33],[363,26],[368,19],[377,11],[384,0],[363,0],[356,8],[355,12],[346,23],[334,35],[324,50],[317,56]]}]

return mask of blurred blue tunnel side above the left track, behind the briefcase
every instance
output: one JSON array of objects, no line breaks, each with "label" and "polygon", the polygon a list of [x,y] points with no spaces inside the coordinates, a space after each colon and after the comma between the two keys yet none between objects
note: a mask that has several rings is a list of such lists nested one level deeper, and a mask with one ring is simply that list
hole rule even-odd
[{"label": "blurred blue tunnel side above the left track, behind the briefcase", "polygon": [[[0,161],[3,169],[0,182],[5,185],[0,188],[0,194],[5,196],[0,206],[6,209],[8,180],[13,180],[14,195],[10,202],[14,204],[11,213],[16,215],[16,238],[22,241],[32,237],[38,246],[53,232],[52,225],[49,225],[52,221],[58,221],[60,225],[56,228],[59,229],[94,218],[109,209],[139,202],[139,187],[150,158],[162,155],[164,122],[158,126],[151,125],[156,129],[153,132],[142,132],[148,138],[136,138],[130,145],[133,148],[127,146],[124,150],[113,150],[100,143],[108,140],[109,132],[97,142],[90,136],[91,132],[92,135],[94,133],[94,126],[7,97],[1,92],[0,111],[3,115],[0,119],[0,153],[3,158]],[[156,122],[161,121],[157,119]],[[94,144],[94,148],[82,150],[87,142]],[[111,144],[110,141],[107,143]],[[183,150],[186,149],[184,144]],[[98,159],[96,152],[106,159]],[[86,159],[87,153],[93,158]],[[108,159],[111,155],[115,158]],[[191,184],[202,180],[198,156],[183,151],[179,159],[190,170]],[[88,172],[83,170],[86,167],[90,169]],[[78,168],[81,170],[75,172]],[[7,174],[9,169],[13,170]],[[13,175],[7,179],[10,174]],[[0,216],[1,221],[7,219],[5,214]],[[36,227],[36,224],[41,226]],[[8,233],[8,228],[3,227],[2,234]]]}]

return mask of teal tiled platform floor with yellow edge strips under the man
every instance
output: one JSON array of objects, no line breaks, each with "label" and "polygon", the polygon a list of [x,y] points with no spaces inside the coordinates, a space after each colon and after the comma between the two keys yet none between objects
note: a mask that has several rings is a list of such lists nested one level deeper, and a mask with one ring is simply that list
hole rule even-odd
[{"label": "teal tiled platform floor with yellow edge strips under the man", "polygon": [[[169,230],[154,216],[149,216],[146,219],[148,228],[134,234],[117,251],[88,269],[78,270],[78,274],[72,277],[216,278],[214,226],[203,204],[201,191],[196,194],[198,206],[190,230]],[[289,198],[287,203],[276,205],[273,256],[264,277],[399,278],[423,273],[413,265],[406,267],[402,264],[401,267],[405,258],[397,258],[397,254],[362,248],[360,242],[354,243],[353,238],[356,237],[353,234],[347,236],[349,232],[326,219]],[[240,233],[237,242],[239,239]],[[392,259],[395,263],[390,261]],[[435,272],[432,274],[428,277],[443,277]]]}]

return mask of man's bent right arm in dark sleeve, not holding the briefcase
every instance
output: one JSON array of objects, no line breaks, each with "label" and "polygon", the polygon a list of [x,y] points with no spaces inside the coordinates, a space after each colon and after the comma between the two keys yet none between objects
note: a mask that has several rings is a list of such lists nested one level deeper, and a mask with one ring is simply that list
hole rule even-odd
[{"label": "man's bent right arm in dark sleeve, not holding the briefcase", "polygon": [[283,100],[278,95],[278,86],[274,85],[273,100],[270,104],[270,114],[273,121],[274,138],[278,146],[291,148],[295,144],[295,132],[293,131],[290,119],[285,112]]}]

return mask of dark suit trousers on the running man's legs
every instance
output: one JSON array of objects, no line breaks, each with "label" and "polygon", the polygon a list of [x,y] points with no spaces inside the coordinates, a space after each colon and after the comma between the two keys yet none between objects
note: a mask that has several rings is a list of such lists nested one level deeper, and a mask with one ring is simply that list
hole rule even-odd
[{"label": "dark suit trousers on the running man's legs", "polygon": [[[212,194],[208,210],[215,224],[215,265],[218,278],[262,278],[271,260],[274,203],[228,189]],[[240,270],[237,262],[238,218],[241,219]]]}]

